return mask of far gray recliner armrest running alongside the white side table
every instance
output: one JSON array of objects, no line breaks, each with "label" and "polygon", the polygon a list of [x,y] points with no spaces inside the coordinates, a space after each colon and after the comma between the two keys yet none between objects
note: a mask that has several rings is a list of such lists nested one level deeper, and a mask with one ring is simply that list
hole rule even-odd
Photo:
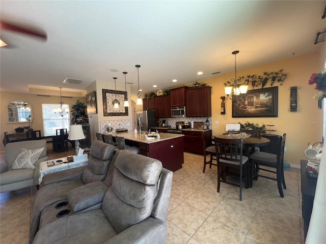
[{"label": "far gray recliner armrest running alongside the white side table", "polygon": [[86,166],[46,174],[42,178],[40,187],[60,181],[78,180],[83,178],[83,172]]}]

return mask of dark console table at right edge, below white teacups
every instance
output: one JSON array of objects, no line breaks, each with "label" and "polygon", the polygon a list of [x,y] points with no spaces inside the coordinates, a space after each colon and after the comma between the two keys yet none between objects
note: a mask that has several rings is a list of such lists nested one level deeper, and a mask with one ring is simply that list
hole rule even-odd
[{"label": "dark console table at right edge, below white teacups", "polygon": [[307,160],[301,160],[302,217],[304,218],[305,240],[308,232],[317,185],[317,178],[309,177],[306,173],[307,163]]}]

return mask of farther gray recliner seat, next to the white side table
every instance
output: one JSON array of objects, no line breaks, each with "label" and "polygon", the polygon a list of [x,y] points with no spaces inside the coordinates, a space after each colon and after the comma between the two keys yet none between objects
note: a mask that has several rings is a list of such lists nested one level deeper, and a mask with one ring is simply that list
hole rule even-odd
[{"label": "farther gray recliner seat, next to the white side table", "polygon": [[39,228],[42,210],[50,204],[65,199],[72,189],[104,180],[114,153],[113,145],[95,140],[90,148],[87,166],[43,176],[40,190],[36,193],[32,206],[30,242]]}]

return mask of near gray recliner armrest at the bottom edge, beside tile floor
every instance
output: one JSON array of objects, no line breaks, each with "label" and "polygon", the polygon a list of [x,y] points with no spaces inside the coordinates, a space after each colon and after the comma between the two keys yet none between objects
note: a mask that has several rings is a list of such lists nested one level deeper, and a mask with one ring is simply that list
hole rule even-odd
[{"label": "near gray recliner armrest at the bottom edge, beside tile floor", "polygon": [[153,217],[148,217],[146,220],[132,225],[110,240],[105,241],[103,244],[164,244],[167,234],[166,224]]}]

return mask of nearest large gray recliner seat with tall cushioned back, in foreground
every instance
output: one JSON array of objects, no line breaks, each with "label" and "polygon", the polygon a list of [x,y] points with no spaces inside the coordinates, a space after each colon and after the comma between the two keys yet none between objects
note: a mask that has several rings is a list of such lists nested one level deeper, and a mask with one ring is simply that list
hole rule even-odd
[{"label": "nearest large gray recliner seat with tall cushioned back, in foreground", "polygon": [[71,213],[41,226],[33,243],[165,242],[172,171],[156,159],[127,150],[119,151],[114,161],[107,177],[111,182],[103,181],[112,185],[101,209],[75,214],[77,195],[68,196]]}]

